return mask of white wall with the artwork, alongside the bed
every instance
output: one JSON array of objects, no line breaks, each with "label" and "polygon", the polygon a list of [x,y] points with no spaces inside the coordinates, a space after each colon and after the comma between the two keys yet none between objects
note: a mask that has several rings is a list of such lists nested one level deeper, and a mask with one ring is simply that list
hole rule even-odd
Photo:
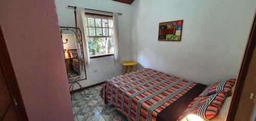
[{"label": "white wall with the artwork, alongside the bed", "polygon": [[[236,78],[255,7],[255,0],[136,0],[133,59],[203,84]],[[182,40],[158,41],[159,22],[179,19]]]}]

